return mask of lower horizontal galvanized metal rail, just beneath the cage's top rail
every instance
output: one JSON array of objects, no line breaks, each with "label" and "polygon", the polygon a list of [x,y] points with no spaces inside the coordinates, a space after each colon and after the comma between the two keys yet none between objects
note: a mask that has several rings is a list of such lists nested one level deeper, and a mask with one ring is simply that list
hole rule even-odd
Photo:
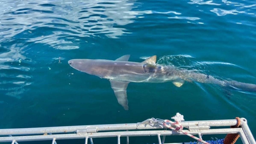
[{"label": "lower horizontal galvanized metal rail, just beneath the cage's top rail", "polygon": [[[238,133],[241,128],[233,129],[210,129],[210,130],[199,130],[202,134],[226,134],[226,133]],[[196,135],[198,132],[184,130],[187,133]],[[114,132],[96,132],[89,133],[87,136],[89,138],[99,138],[99,137],[116,137],[121,136],[149,136],[149,135],[184,135],[173,130],[146,130],[146,131],[114,131]],[[13,137],[0,137],[0,142],[11,142],[16,141],[36,141],[36,140],[52,140],[56,139],[76,139],[84,138],[84,135],[78,134],[53,134],[53,135],[32,135],[32,136],[13,136]],[[92,141],[91,141],[92,142]]]}]

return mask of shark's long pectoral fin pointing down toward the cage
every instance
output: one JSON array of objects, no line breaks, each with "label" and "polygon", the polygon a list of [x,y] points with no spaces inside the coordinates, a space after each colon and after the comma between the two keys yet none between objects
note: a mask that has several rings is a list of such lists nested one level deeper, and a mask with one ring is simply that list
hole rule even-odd
[{"label": "shark's long pectoral fin pointing down toward the cage", "polygon": [[129,82],[123,82],[123,81],[110,81],[111,87],[114,90],[115,97],[119,104],[123,106],[125,110],[128,110],[128,100],[127,100],[127,94],[126,94],[126,88],[129,84]]}]

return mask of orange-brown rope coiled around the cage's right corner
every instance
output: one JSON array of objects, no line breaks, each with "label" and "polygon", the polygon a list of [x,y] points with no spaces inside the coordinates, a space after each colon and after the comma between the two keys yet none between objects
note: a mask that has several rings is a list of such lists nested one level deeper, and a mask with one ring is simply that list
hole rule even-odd
[{"label": "orange-brown rope coiled around the cage's right corner", "polygon": [[[230,128],[241,128],[240,124],[240,118],[236,117],[237,119],[237,125],[235,126],[231,126]],[[235,142],[237,141],[237,139],[240,137],[240,135],[238,133],[229,133],[226,135],[225,139],[224,139],[224,144],[235,144]]]}]

